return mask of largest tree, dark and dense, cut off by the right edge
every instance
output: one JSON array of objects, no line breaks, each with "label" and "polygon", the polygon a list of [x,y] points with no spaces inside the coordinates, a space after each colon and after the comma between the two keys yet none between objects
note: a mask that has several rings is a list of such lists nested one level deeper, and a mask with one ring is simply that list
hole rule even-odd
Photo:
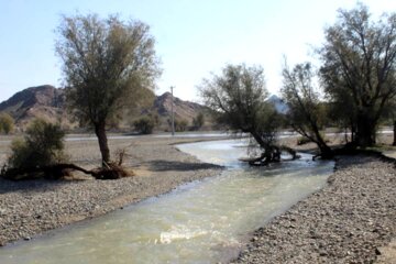
[{"label": "largest tree, dark and dense, cut off by the right edge", "polygon": [[373,22],[369,10],[358,4],[339,10],[334,25],[326,30],[319,51],[324,90],[332,101],[350,100],[356,127],[355,143],[375,144],[378,120],[396,96],[396,13]]}]

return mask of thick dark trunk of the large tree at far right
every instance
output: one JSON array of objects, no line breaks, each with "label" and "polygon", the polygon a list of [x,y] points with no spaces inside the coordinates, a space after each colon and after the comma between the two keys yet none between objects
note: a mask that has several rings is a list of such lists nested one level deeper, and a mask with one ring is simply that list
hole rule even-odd
[{"label": "thick dark trunk of the large tree at far right", "polygon": [[360,113],[356,122],[356,143],[359,146],[372,146],[375,144],[375,120],[370,114]]}]

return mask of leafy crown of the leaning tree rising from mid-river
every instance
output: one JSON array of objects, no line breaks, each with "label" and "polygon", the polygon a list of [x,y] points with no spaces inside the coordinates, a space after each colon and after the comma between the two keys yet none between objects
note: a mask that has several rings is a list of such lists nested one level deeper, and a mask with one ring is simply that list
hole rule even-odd
[{"label": "leafy crown of the leaning tree rising from mid-river", "polygon": [[200,94],[205,105],[217,113],[217,122],[242,132],[254,129],[268,96],[263,69],[245,65],[228,65],[221,76],[205,79]]}]

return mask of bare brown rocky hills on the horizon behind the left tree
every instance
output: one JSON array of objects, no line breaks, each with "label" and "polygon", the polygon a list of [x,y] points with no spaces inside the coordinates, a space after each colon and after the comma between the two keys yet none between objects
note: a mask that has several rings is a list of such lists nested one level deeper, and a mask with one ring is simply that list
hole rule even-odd
[{"label": "bare brown rocky hills on the horizon behind the left tree", "polygon": [[[150,112],[156,113],[164,127],[170,118],[172,95],[165,92],[155,97],[154,105]],[[195,102],[184,101],[174,98],[175,119],[186,120],[189,124],[199,112],[207,108]],[[65,109],[64,89],[55,88],[50,85],[30,87],[16,92],[8,100],[0,103],[0,112],[9,113],[20,129],[24,129],[33,119],[41,118],[50,122],[62,122],[66,129],[73,129],[76,123],[70,121],[70,117]],[[144,111],[140,111],[143,112]],[[127,117],[129,119],[129,117]],[[128,124],[125,120],[124,124]]]}]

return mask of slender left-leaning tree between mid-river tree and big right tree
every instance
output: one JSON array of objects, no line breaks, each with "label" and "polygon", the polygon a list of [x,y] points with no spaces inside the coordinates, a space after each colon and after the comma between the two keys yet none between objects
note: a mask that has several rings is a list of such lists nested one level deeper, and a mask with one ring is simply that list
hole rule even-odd
[{"label": "slender left-leaning tree between mid-river tree and big right tree", "polygon": [[324,107],[312,85],[312,77],[309,63],[297,64],[292,70],[284,66],[282,94],[289,107],[287,118],[295,131],[318,145],[322,158],[331,158],[333,153],[320,133],[326,122]]}]

